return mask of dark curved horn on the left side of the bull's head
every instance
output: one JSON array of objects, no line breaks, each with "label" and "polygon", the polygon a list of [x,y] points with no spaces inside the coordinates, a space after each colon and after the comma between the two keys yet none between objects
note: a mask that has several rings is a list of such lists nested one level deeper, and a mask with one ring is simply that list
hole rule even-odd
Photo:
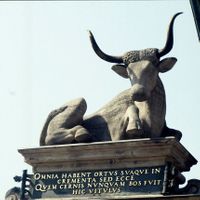
[{"label": "dark curved horn on the left side of the bull's head", "polygon": [[89,37],[90,37],[90,41],[91,41],[91,44],[92,44],[92,48],[94,49],[95,53],[103,60],[105,61],[108,61],[108,62],[111,62],[111,63],[122,63],[123,60],[122,60],[122,57],[120,56],[110,56],[110,55],[107,55],[105,54],[100,48],[99,46],[97,45],[95,39],[94,39],[94,36],[92,34],[91,31],[88,31],[89,32]]}]

